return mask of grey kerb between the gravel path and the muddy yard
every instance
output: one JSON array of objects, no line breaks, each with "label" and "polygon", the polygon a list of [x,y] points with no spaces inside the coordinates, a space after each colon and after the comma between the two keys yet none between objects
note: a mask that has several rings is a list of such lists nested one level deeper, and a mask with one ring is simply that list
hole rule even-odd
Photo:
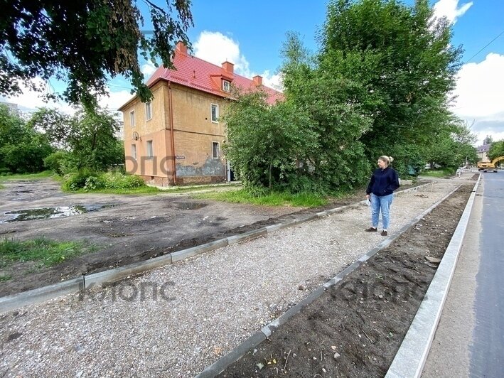
[{"label": "grey kerb between the gravel path and the muddy yard", "polygon": [[[423,188],[424,186],[431,185],[433,183],[434,181],[431,181],[429,183],[415,186],[414,188],[407,188],[404,190],[400,190],[394,193],[394,195],[400,195],[402,193],[417,191],[419,188]],[[119,268],[109,269],[106,271],[101,271],[99,273],[94,273],[87,276],[70,279],[68,281],[63,281],[58,284],[43,286],[41,288],[36,288],[30,291],[24,291],[23,293],[17,293],[11,296],[4,296],[0,298],[0,312],[12,311],[22,306],[41,303],[44,301],[48,301],[49,299],[56,298],[58,296],[63,296],[69,293],[77,293],[78,291],[82,291],[82,289],[90,288],[97,284],[110,284],[114,281],[118,281],[119,279],[124,279],[128,276],[132,276],[133,274],[139,274],[144,271],[158,268],[160,266],[173,264],[173,262],[187,259],[188,257],[193,257],[197,254],[201,254],[204,252],[213,251],[215,249],[225,247],[228,244],[244,242],[246,240],[259,237],[263,234],[277,231],[278,229],[284,229],[294,225],[299,225],[300,223],[309,222],[311,220],[317,219],[318,217],[331,215],[335,212],[342,212],[350,207],[358,207],[362,205],[364,202],[365,200],[355,202],[350,205],[335,207],[333,209],[318,212],[316,214],[311,214],[304,217],[296,218],[294,220],[280,222],[277,223],[276,225],[261,227],[259,229],[255,229],[250,232],[245,232],[243,234],[218,239],[213,242],[201,244],[196,247],[191,247],[188,249],[183,249],[181,251],[172,252],[171,254],[166,254],[161,257],[155,257],[154,259],[139,261],[134,264],[129,264],[127,266],[120,266]]]}]

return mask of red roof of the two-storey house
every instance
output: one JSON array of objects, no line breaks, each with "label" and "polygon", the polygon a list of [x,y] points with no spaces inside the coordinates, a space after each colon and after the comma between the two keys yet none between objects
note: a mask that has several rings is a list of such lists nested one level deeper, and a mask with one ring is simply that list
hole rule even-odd
[{"label": "red roof of the two-storey house", "polygon": [[[229,93],[224,92],[220,87],[221,77],[222,79],[228,80],[232,82],[233,85],[241,87],[244,90],[257,87],[254,81],[247,79],[247,77],[227,72],[224,68],[219,67],[218,65],[213,65],[205,60],[181,53],[179,51],[176,51],[175,53],[173,65],[176,70],[168,70],[164,68],[163,65],[159,66],[156,72],[154,72],[147,81],[147,86],[150,87],[158,80],[168,80],[221,97],[229,97]],[[213,80],[212,77],[215,77],[218,80]],[[265,87],[264,85],[262,85],[262,89],[264,89],[264,91],[266,91],[269,95],[269,104],[274,104],[277,99],[283,99],[281,92]]]}]

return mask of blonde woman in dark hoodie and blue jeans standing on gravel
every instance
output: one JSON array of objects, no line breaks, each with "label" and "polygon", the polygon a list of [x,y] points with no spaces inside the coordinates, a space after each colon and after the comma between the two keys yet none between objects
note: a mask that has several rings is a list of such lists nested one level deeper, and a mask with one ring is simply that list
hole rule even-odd
[{"label": "blonde woman in dark hoodie and blue jeans standing on gravel", "polygon": [[397,172],[389,167],[394,161],[392,156],[380,156],[378,158],[378,169],[372,173],[371,180],[366,190],[366,198],[371,201],[371,227],[368,232],[378,230],[378,220],[380,210],[382,212],[382,236],[387,236],[387,229],[390,223],[390,205],[394,197],[394,190],[399,188],[399,176]]}]

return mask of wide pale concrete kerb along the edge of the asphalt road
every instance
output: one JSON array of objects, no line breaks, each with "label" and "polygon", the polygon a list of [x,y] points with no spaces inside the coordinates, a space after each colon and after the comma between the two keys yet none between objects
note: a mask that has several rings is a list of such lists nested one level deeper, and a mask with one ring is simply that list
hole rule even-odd
[{"label": "wide pale concrete kerb along the edge of the asphalt road", "polygon": [[443,259],[439,264],[436,274],[425,293],[424,300],[415,315],[409,330],[402,340],[401,346],[390,365],[388,378],[396,377],[420,377],[424,369],[425,361],[429,355],[436,328],[441,318],[446,296],[453,279],[457,260],[466,234],[469,217],[473,208],[474,198],[478,190],[481,175],[474,185],[473,193],[467,201],[466,208],[457,225],[450,244],[444,252]]}]

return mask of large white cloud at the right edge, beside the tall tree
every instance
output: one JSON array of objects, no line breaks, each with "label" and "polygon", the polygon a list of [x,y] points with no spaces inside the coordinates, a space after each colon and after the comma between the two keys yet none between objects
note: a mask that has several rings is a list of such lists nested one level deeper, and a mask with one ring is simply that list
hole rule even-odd
[{"label": "large white cloud at the right edge, beside the tall tree", "polygon": [[504,139],[504,55],[490,53],[481,63],[463,65],[456,83],[453,112],[473,124],[478,144],[490,135]]}]

